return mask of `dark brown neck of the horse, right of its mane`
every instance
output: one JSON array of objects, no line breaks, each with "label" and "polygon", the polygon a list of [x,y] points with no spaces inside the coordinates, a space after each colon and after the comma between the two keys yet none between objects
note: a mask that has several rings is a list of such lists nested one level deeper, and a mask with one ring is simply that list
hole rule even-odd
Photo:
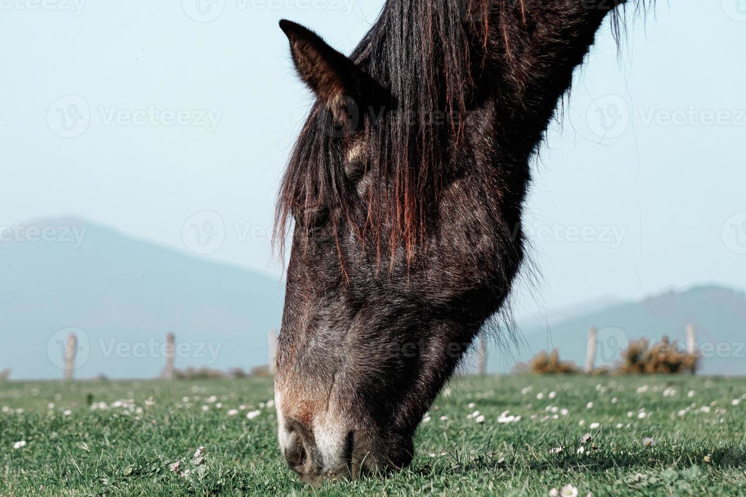
[{"label": "dark brown neck of the horse, right of its mane", "polygon": [[486,39],[474,30],[471,44],[482,51],[483,87],[477,91],[495,103],[498,146],[519,157],[535,151],[604,17],[624,1],[499,0],[493,5]]}]

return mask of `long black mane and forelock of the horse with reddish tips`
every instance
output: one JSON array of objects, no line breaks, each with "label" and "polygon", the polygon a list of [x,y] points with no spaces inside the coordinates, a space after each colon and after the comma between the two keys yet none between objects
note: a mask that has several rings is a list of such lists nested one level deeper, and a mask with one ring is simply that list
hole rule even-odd
[{"label": "long black mane and forelock of the horse with reddish tips", "polygon": [[[395,98],[388,108],[360,113],[371,154],[366,157],[366,174],[372,178],[364,199],[366,218],[356,218],[355,203],[360,200],[345,174],[345,138],[334,136],[331,113],[324,102],[316,101],[280,184],[273,237],[280,255],[291,218],[297,216],[307,231],[314,211],[323,206],[340,213],[339,218],[332,217],[335,238],[339,223],[346,222],[363,244],[366,233],[372,232],[378,259],[386,246],[392,264],[399,248],[410,261],[432,222],[429,214],[437,205],[442,180],[453,172],[448,170],[450,157],[465,142],[463,117],[481,62],[474,52],[486,53],[480,48],[486,49],[488,43],[488,14],[518,7],[525,22],[530,7],[524,2],[530,1],[386,1],[350,56]],[[643,5],[645,1],[650,0],[639,0]],[[616,39],[624,31],[623,12],[613,13]],[[464,22],[465,15],[479,20]],[[501,42],[510,52],[507,30]],[[436,118],[445,119],[445,125]]]}]

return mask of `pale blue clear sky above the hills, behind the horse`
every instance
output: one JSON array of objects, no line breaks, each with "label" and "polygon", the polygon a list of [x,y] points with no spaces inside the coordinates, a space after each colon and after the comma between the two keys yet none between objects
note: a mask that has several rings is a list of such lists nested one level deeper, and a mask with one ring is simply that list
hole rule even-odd
[{"label": "pale blue clear sky above the hills, behind the horse", "polygon": [[[381,4],[1,2],[0,227],[75,215],[279,275],[272,206],[311,99],[277,21],[348,52]],[[521,302],[746,287],[745,48],[744,0],[659,1],[621,55],[599,34],[535,167]],[[190,238],[205,221],[222,243]]]}]

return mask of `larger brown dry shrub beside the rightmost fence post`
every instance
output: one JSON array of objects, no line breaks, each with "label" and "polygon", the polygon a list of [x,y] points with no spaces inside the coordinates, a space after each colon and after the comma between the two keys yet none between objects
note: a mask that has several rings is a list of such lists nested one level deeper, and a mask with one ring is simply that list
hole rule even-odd
[{"label": "larger brown dry shrub beside the rightmost fence post", "polygon": [[661,341],[649,346],[647,338],[630,342],[623,353],[623,361],[616,373],[621,374],[671,374],[694,373],[697,369],[698,355],[689,354],[677,341],[669,341],[664,336]]}]

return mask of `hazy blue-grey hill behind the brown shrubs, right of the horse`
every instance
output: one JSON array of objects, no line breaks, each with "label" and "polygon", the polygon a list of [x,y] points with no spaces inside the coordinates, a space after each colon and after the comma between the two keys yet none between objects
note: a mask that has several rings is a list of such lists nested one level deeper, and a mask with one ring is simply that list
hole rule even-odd
[{"label": "hazy blue-grey hill behind the brown shrubs, right of the horse", "polygon": [[515,361],[527,361],[536,352],[554,347],[562,360],[582,367],[592,326],[598,329],[596,364],[613,364],[630,340],[668,335],[686,344],[686,326],[692,323],[704,355],[700,373],[746,375],[746,294],[742,291],[703,286],[566,315],[549,318],[542,326],[536,319],[521,320],[525,344],[507,353],[493,347],[489,369],[509,371]]}]

